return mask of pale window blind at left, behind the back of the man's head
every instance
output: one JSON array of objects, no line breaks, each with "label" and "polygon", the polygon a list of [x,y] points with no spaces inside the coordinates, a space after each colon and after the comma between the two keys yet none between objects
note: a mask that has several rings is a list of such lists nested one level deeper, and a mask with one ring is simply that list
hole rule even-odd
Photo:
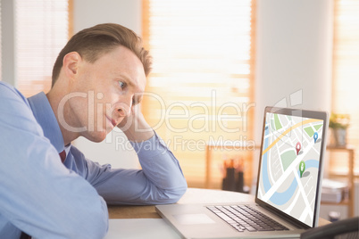
[{"label": "pale window blind at left, behind the back of the man's head", "polygon": [[68,0],[16,0],[16,87],[47,92],[54,61],[68,40]]}]

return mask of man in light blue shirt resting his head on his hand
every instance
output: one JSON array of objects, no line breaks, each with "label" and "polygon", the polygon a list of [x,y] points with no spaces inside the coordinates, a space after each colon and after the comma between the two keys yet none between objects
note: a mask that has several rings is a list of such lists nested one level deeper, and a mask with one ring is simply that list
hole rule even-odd
[{"label": "man in light blue shirt resting his head on his hand", "polygon": [[[150,60],[131,30],[100,24],[65,45],[47,95],[26,99],[0,82],[0,238],[102,238],[106,202],[171,203],[185,193],[179,162],[137,111]],[[100,142],[116,126],[141,170],[100,166],[71,145]]]}]

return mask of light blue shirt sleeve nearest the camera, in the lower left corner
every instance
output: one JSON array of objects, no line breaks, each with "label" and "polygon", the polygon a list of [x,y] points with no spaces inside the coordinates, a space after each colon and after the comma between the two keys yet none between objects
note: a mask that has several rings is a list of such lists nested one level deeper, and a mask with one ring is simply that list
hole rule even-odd
[{"label": "light blue shirt sleeve nearest the camera, in the lower left corner", "polygon": [[63,166],[27,100],[1,83],[0,132],[0,237],[102,238],[104,199]]}]

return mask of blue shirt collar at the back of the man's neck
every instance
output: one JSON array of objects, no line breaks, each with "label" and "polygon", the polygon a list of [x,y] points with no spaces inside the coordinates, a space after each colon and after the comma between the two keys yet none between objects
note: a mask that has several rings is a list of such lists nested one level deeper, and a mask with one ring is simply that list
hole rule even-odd
[{"label": "blue shirt collar at the back of the man's neck", "polygon": [[29,104],[38,124],[44,131],[44,135],[48,138],[51,144],[54,145],[57,152],[63,152],[63,134],[54,116],[54,111],[44,92],[38,93],[28,98]]}]

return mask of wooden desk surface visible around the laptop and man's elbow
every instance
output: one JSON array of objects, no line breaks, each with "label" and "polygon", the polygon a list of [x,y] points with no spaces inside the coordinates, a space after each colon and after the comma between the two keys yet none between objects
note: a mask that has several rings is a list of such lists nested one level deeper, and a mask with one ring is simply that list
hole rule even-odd
[{"label": "wooden desk surface visible around the laptop and man's elbow", "polygon": [[[254,196],[229,191],[188,188],[186,194],[179,200],[179,204],[196,203],[236,203],[252,202]],[[154,206],[109,206],[110,218],[161,218],[154,209]],[[319,225],[323,226],[330,222],[320,218]]]}]

